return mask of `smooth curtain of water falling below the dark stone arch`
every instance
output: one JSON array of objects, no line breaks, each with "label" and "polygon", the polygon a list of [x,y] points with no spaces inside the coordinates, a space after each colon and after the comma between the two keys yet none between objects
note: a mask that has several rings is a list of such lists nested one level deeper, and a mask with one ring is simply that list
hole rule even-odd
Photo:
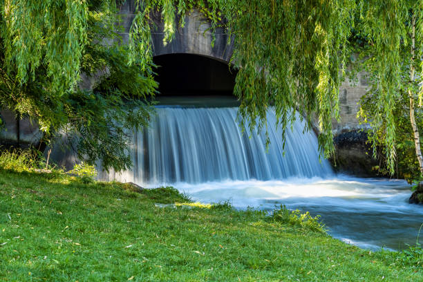
[{"label": "smooth curtain of water falling below the dark stone arch", "polygon": [[[133,169],[100,176],[103,180],[165,185],[222,180],[274,180],[330,176],[327,160],[319,162],[317,138],[305,132],[299,118],[286,131],[276,129],[274,111],[265,132],[242,133],[237,108],[161,107],[148,129],[133,135]],[[285,151],[285,153],[284,153]]]}]

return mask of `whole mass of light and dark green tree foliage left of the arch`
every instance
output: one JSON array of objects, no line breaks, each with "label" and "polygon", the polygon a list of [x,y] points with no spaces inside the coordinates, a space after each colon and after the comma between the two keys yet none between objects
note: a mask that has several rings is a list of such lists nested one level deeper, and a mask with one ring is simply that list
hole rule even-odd
[{"label": "whole mass of light and dark green tree foliage left of the arch", "polygon": [[[115,1],[0,1],[0,107],[29,116],[45,142],[126,169],[128,131],[147,125],[151,64],[120,44]],[[95,77],[82,87],[81,75]],[[77,142],[75,141],[77,140]]]}]

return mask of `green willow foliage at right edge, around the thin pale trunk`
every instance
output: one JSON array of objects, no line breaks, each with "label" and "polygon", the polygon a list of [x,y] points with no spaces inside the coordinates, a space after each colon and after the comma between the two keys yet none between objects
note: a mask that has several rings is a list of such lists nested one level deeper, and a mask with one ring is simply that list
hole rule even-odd
[{"label": "green willow foliage at right edge, around the thin pale trunk", "polygon": [[[362,2],[358,10],[357,36],[362,41],[355,46],[360,54],[357,65],[370,80],[359,117],[370,123],[375,155],[381,149],[388,172],[394,171],[399,149],[400,158],[408,162],[402,164],[408,178],[420,178],[423,158],[417,124],[422,124],[422,113],[415,109],[415,101],[422,106],[423,2],[377,2]],[[414,153],[408,150],[411,144]],[[413,173],[415,163],[418,175]]]}]

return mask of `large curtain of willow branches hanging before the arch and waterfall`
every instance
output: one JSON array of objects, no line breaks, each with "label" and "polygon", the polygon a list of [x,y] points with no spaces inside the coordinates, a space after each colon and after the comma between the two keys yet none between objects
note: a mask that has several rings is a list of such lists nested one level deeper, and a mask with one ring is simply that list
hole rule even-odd
[{"label": "large curtain of willow branches hanging before the arch and waterfall", "polygon": [[271,105],[283,131],[296,118],[294,111],[307,118],[308,129],[316,115],[321,151],[326,156],[332,153],[331,122],[338,118],[340,73],[348,54],[345,47],[353,27],[354,0],[162,0],[136,4],[138,15],[130,42],[134,56],[142,54],[146,64],[152,62],[151,10],[162,11],[166,44],[176,29],[175,15],[197,8],[212,27],[225,26],[228,42],[234,39],[232,64],[239,69],[234,94],[241,101],[243,129],[265,128]]}]

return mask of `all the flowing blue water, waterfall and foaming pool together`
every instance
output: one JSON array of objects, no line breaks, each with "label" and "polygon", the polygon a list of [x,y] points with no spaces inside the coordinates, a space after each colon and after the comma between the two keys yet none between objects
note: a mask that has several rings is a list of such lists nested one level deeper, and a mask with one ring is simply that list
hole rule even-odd
[{"label": "all the flowing blue water, waterfall and foaming pool together", "polygon": [[299,117],[286,131],[267,115],[265,133],[241,132],[234,108],[159,107],[149,129],[133,136],[131,171],[104,180],[143,187],[171,185],[203,203],[229,201],[238,209],[289,209],[321,215],[329,233],[369,249],[414,244],[423,208],[408,204],[403,180],[354,178],[333,173],[319,160],[317,138]]}]

